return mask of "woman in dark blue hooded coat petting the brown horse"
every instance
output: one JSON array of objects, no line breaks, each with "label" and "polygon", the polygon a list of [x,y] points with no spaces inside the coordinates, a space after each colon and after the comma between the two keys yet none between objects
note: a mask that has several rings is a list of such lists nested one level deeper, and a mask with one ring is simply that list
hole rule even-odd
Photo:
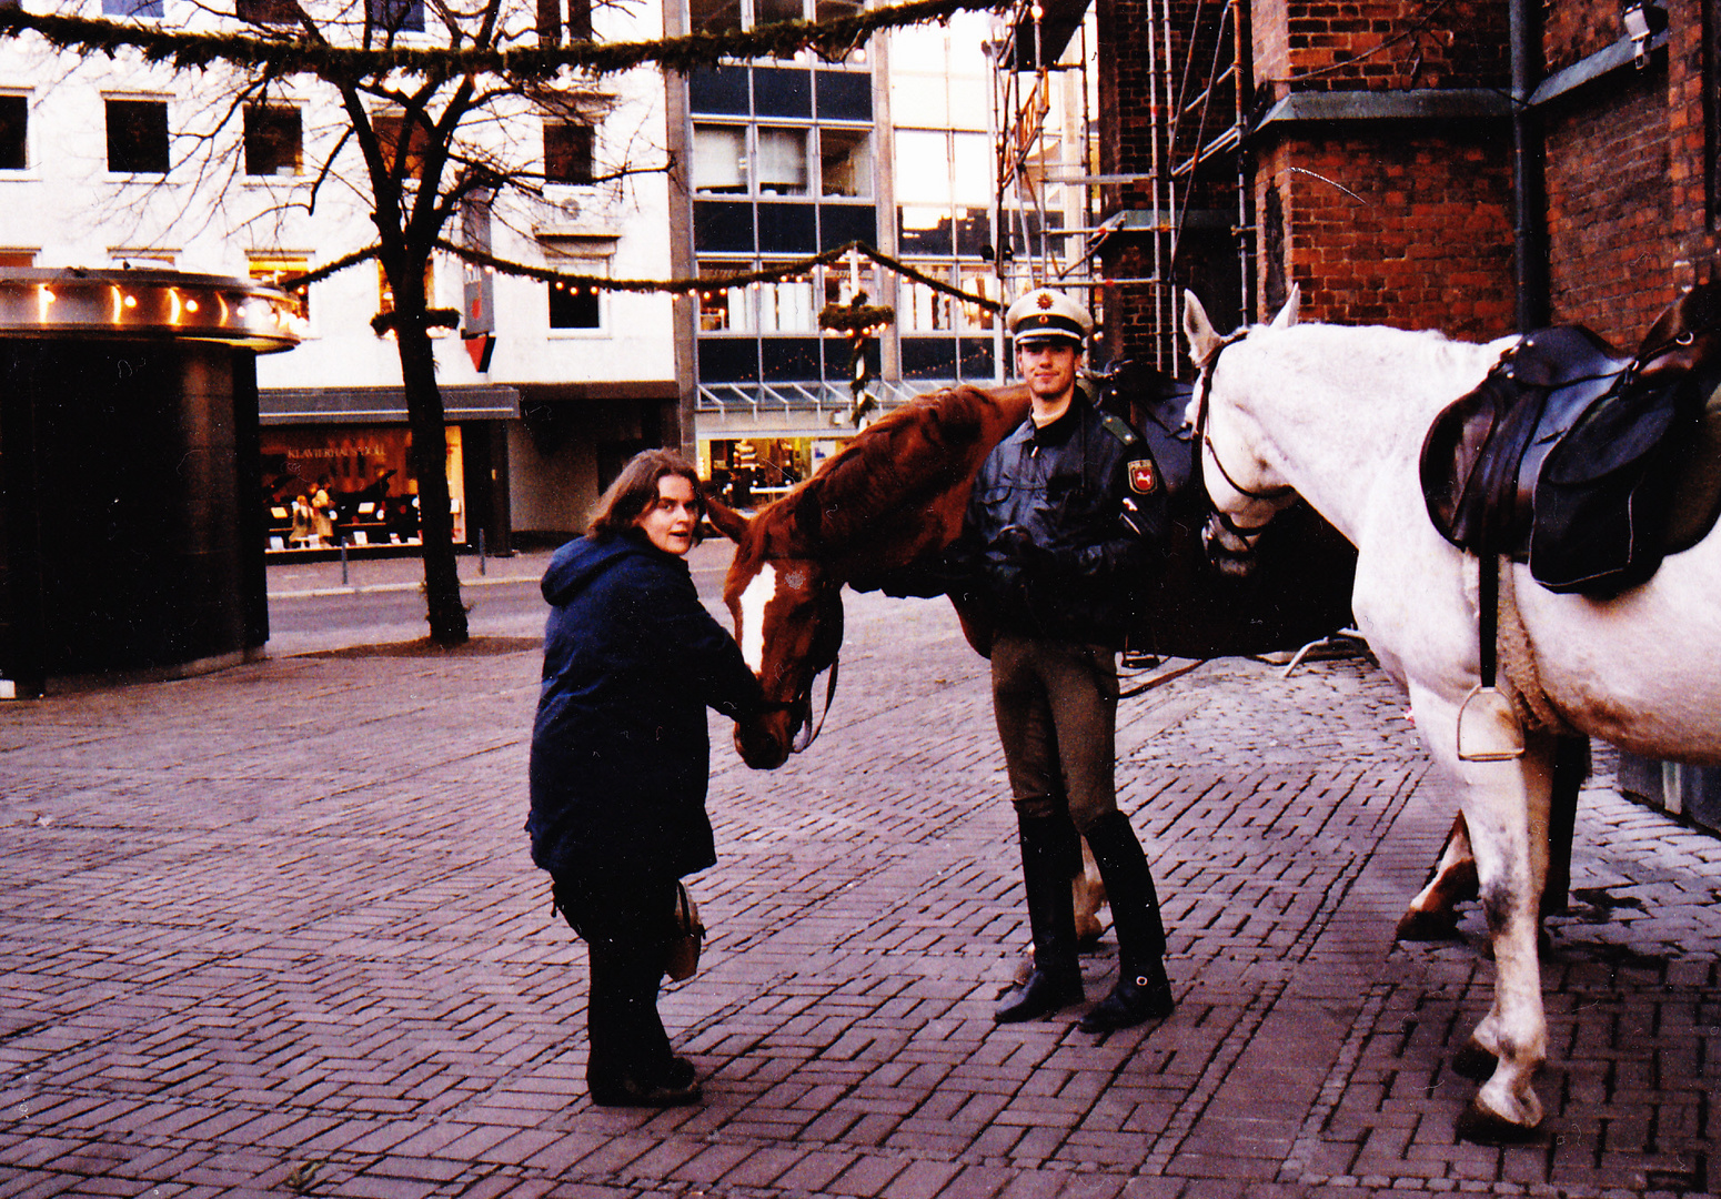
[{"label": "woman in dark blue hooded coat petting the brown horse", "polygon": [[699,1099],[657,1017],[676,879],[716,864],[706,707],[761,702],[688,575],[704,501],[673,451],[637,454],[590,532],[544,575],[551,604],[532,729],[532,860],[590,950],[585,1079],[592,1101]]}]

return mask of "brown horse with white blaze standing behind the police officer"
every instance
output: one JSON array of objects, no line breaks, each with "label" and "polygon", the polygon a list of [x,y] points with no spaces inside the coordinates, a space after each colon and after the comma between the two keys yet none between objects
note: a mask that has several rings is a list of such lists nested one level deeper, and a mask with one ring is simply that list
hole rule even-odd
[{"label": "brown horse with white blaze standing behind the police officer", "polygon": [[[1146,442],[1170,487],[1170,532],[1158,573],[1143,580],[1131,647],[1167,657],[1296,649],[1349,621],[1356,552],[1311,513],[1287,513],[1256,545],[1248,578],[1208,566],[1206,497],[1189,430],[1187,389],[1136,380],[1113,411],[1158,430]],[[962,532],[969,490],[986,454],[1027,416],[1027,389],[953,387],[921,396],[855,435],[819,473],[757,516],[711,502],[711,523],[737,544],[723,599],[735,640],[764,685],[768,709],[735,729],[757,769],[788,760],[812,729],[812,688],[842,645],[842,588],[874,590],[922,564]],[[969,643],[988,654],[984,614],[955,599]]]}]

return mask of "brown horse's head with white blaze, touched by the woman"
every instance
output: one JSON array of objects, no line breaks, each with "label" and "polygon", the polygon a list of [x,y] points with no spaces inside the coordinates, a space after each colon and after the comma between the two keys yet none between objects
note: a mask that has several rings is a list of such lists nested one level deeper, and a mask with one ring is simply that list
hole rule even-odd
[{"label": "brown horse's head with white blaze, touched by the woman", "polygon": [[766,698],[735,724],[735,748],[747,766],[773,771],[811,740],[812,688],[843,642],[843,583],[797,547],[781,501],[752,518],[711,501],[707,514],[735,542],[723,602]]}]

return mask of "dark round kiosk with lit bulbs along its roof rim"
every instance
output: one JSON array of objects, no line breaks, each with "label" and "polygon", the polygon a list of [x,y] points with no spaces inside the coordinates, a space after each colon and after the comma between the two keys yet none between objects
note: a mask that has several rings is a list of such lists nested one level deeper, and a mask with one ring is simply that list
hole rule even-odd
[{"label": "dark round kiosk with lit bulbs along its roof rim", "polygon": [[172,678],[268,640],[246,279],[0,270],[0,698]]}]

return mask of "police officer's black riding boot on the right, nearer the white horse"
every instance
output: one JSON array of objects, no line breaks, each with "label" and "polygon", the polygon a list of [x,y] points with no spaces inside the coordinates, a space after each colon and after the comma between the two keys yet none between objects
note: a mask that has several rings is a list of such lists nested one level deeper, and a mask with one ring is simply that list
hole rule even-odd
[{"label": "police officer's black riding boot on the right, nearer the white horse", "polygon": [[1153,874],[1129,817],[1112,812],[1088,829],[1117,929],[1117,986],[1077,1025],[1083,1032],[1129,1029],[1169,1017],[1175,1006],[1165,977],[1165,924]]}]

